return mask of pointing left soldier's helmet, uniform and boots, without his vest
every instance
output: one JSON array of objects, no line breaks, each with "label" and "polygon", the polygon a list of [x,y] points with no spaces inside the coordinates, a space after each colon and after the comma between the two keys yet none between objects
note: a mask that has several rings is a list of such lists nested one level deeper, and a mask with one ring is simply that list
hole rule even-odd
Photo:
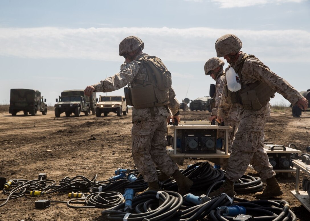
[{"label": "pointing left soldier's helmet, uniform and boots, without his vest", "polygon": [[[147,82],[149,76],[145,66],[141,66],[141,59],[148,55],[142,53],[143,48],[144,43],[138,37],[126,37],[119,46],[119,55],[126,59],[126,63],[121,65],[121,71],[88,86],[85,93],[88,95],[89,91],[111,92],[128,84],[132,87],[142,86],[141,82]],[[163,63],[161,65],[166,69]],[[169,88],[169,109],[165,106],[132,106],[132,157],[144,181],[148,182],[149,190],[160,190],[156,167],[169,177],[174,177],[181,194],[188,192],[193,185],[191,180],[180,173],[166,152],[167,119],[179,113],[179,106],[172,87]],[[179,116],[176,118],[179,120]]]}]

